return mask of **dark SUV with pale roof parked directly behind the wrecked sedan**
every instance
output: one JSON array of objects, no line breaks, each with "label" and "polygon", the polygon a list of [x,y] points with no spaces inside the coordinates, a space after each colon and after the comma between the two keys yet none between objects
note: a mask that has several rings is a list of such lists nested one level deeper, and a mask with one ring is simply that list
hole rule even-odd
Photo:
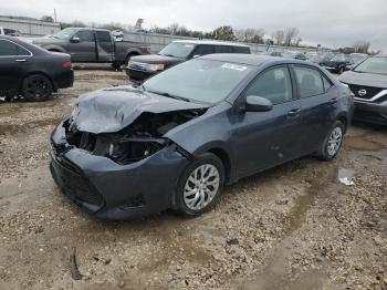
[{"label": "dark SUV with pale roof parked directly behind the wrecked sedan", "polygon": [[130,80],[142,82],[178,63],[211,53],[251,52],[250,46],[233,42],[177,40],[169,43],[158,54],[132,58],[125,70]]}]

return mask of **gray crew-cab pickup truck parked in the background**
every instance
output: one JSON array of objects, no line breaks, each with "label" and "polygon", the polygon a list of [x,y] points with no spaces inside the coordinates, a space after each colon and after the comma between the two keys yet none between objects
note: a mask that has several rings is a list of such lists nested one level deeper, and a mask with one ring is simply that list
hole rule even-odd
[{"label": "gray crew-cab pickup truck parked in the background", "polygon": [[71,54],[72,62],[112,63],[114,68],[127,64],[132,56],[149,54],[150,46],[132,41],[115,41],[106,29],[66,28],[53,35],[33,40],[48,51]]}]

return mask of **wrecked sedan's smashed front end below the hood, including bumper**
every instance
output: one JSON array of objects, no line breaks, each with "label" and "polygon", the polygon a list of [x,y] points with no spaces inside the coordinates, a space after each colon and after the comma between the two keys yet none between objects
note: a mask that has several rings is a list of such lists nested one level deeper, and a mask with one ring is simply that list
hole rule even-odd
[{"label": "wrecked sedan's smashed front end below the hood, including bumper", "polygon": [[73,114],[51,136],[52,176],[75,204],[104,219],[169,208],[190,155],[165,135],[206,111],[142,112],[116,132],[81,130]]}]

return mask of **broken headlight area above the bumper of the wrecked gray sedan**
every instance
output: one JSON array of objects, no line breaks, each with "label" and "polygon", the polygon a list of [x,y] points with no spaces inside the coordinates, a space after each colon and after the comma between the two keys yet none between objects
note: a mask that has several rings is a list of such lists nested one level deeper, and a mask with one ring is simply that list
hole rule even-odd
[{"label": "broken headlight area above the bumper of the wrecked gray sedan", "polygon": [[165,138],[122,138],[109,144],[108,157],[121,165],[126,165],[142,160],[168,144],[168,139]]}]

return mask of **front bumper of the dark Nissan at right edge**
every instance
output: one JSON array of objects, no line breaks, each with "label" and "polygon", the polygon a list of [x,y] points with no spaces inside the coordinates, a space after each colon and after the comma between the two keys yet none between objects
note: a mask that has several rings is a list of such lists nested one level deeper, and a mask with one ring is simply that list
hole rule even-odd
[{"label": "front bumper of the dark Nissan at right edge", "polygon": [[355,100],[354,120],[387,125],[387,101],[370,103]]}]

